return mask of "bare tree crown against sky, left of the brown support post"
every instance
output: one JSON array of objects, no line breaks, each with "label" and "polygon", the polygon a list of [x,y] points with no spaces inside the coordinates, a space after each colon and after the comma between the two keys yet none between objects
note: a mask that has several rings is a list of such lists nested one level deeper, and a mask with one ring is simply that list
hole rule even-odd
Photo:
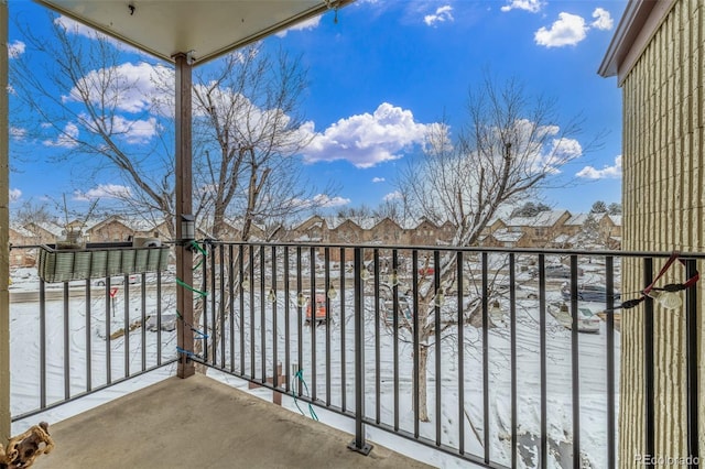
[{"label": "bare tree crown against sky, left of the brown support post", "polygon": [[[51,34],[39,36],[19,25],[32,52],[13,59],[10,80],[15,103],[34,114],[28,138],[54,148],[54,161],[77,163],[76,190],[105,177],[111,182],[105,192],[112,190],[108,195],[129,207],[126,211],[169,219],[173,117],[158,111],[158,99],[140,95],[139,74],[121,67],[149,68],[148,81],[164,80],[172,72],[156,64],[124,64],[124,50],[112,40],[79,34],[79,26],[66,19],[51,15]],[[37,63],[43,74],[35,73]]]}]

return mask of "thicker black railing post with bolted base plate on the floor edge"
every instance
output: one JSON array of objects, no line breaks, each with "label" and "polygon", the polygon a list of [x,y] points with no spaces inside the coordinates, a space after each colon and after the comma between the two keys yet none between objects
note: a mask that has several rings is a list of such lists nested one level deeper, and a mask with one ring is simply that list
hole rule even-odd
[{"label": "thicker black railing post with bolted base plate on the floor edge", "polygon": [[352,275],[355,279],[355,439],[348,445],[348,448],[361,452],[362,455],[369,455],[372,450],[372,446],[365,443],[365,425],[362,424],[362,416],[365,415],[365,374],[364,374],[364,361],[365,361],[365,335],[364,335],[364,292],[365,285],[362,284],[362,248],[355,248],[355,269]]}]

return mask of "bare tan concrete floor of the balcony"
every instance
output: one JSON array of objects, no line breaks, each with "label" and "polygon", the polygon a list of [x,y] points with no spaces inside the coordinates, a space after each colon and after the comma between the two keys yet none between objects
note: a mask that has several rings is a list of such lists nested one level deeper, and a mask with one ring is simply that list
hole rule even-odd
[{"label": "bare tan concrete floor of the balcony", "polygon": [[[34,468],[426,468],[202,374],[170,378],[50,426]],[[372,441],[373,444],[373,441]]]}]

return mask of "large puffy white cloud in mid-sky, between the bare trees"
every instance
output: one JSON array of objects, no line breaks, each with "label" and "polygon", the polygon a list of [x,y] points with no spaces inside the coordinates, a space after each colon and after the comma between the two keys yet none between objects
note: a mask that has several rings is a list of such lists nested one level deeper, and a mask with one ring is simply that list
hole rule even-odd
[{"label": "large puffy white cloud in mid-sky, between the bare trees", "polygon": [[[347,160],[357,167],[372,167],[399,160],[403,150],[423,144],[429,128],[414,122],[410,110],[383,102],[372,114],[340,119],[316,133],[303,151],[304,162]],[[313,133],[313,126],[307,130]]]}]

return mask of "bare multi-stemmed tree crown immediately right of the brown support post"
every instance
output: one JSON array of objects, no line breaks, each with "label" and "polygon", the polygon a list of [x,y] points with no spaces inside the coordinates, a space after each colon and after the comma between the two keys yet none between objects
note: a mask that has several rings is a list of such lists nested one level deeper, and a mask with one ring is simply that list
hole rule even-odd
[{"label": "bare multi-stemmed tree crown immediately right of the brown support post", "polygon": [[197,212],[207,214],[212,234],[219,237],[229,216],[248,240],[256,222],[276,228],[272,220],[311,209],[305,200],[314,200],[317,188],[294,157],[312,138],[301,114],[307,83],[300,58],[249,46],[199,74],[197,83]]}]

